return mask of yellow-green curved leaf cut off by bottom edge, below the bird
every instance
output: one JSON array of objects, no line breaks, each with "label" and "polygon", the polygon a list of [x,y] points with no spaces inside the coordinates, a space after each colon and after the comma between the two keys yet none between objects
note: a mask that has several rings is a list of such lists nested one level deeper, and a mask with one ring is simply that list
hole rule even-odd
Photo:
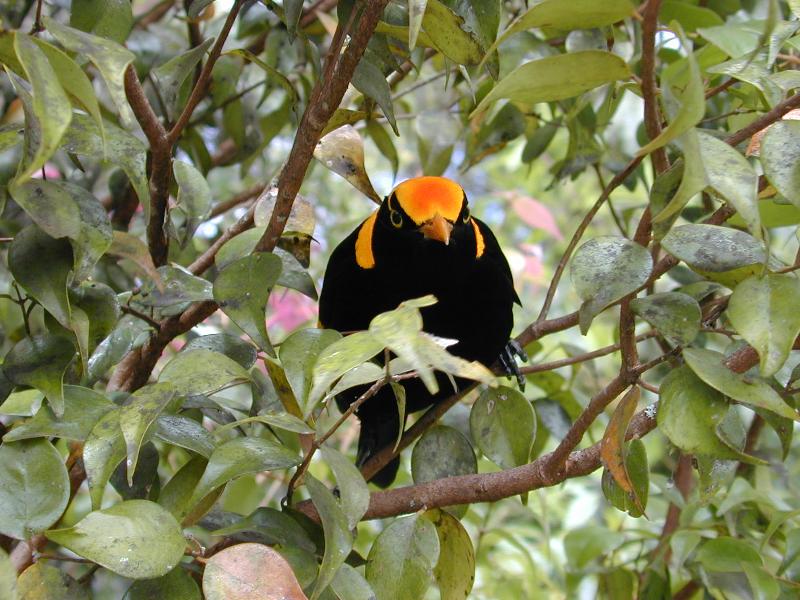
[{"label": "yellow-green curved leaf cut off by bottom edge, below the bird", "polygon": [[439,561],[433,570],[441,600],[464,600],[475,581],[475,549],[464,526],[443,510],[423,514],[439,536]]}]

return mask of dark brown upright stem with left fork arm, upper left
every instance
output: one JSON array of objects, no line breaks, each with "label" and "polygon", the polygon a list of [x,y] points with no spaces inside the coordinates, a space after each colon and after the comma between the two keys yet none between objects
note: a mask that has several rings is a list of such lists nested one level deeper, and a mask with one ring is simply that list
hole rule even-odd
[{"label": "dark brown upright stem with left fork arm, upper left", "polygon": [[172,176],[172,144],[166,129],[147,100],[132,64],[125,69],[125,95],[150,143],[150,218],[147,222],[147,245],[153,263],[159,267],[166,264],[169,251],[164,220]]}]

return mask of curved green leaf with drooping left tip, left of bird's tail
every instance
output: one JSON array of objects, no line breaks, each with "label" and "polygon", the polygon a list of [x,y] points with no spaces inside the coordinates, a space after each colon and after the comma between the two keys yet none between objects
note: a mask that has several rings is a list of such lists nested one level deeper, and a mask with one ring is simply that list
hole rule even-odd
[{"label": "curved green leaf with drooping left tip, left of bird's tail", "polygon": [[259,437],[235,438],[214,449],[189,502],[194,505],[216,488],[248,473],[288,469],[300,463],[292,451]]}]

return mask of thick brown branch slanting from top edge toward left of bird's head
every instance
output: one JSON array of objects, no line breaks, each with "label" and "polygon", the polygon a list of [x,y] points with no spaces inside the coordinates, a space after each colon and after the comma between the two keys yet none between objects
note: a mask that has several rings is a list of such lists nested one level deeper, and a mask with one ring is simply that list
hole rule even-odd
[{"label": "thick brown branch slanting from top edge toward left of bird's head", "polygon": [[[294,144],[289,152],[289,158],[278,178],[278,197],[275,200],[275,209],[272,211],[267,230],[258,242],[258,250],[270,251],[278,242],[322,130],[334,111],[339,108],[347,86],[350,84],[350,79],[353,77],[356,66],[364,54],[367,43],[375,31],[387,3],[388,0],[358,3],[350,13],[349,21],[347,23],[340,22],[337,26],[328,52],[325,72],[311,92],[310,100],[303,112],[300,127],[294,138]],[[350,42],[342,53],[341,48],[345,37],[350,32],[360,6],[364,6],[364,8],[358,20],[358,26],[355,31],[350,33]]]}]

